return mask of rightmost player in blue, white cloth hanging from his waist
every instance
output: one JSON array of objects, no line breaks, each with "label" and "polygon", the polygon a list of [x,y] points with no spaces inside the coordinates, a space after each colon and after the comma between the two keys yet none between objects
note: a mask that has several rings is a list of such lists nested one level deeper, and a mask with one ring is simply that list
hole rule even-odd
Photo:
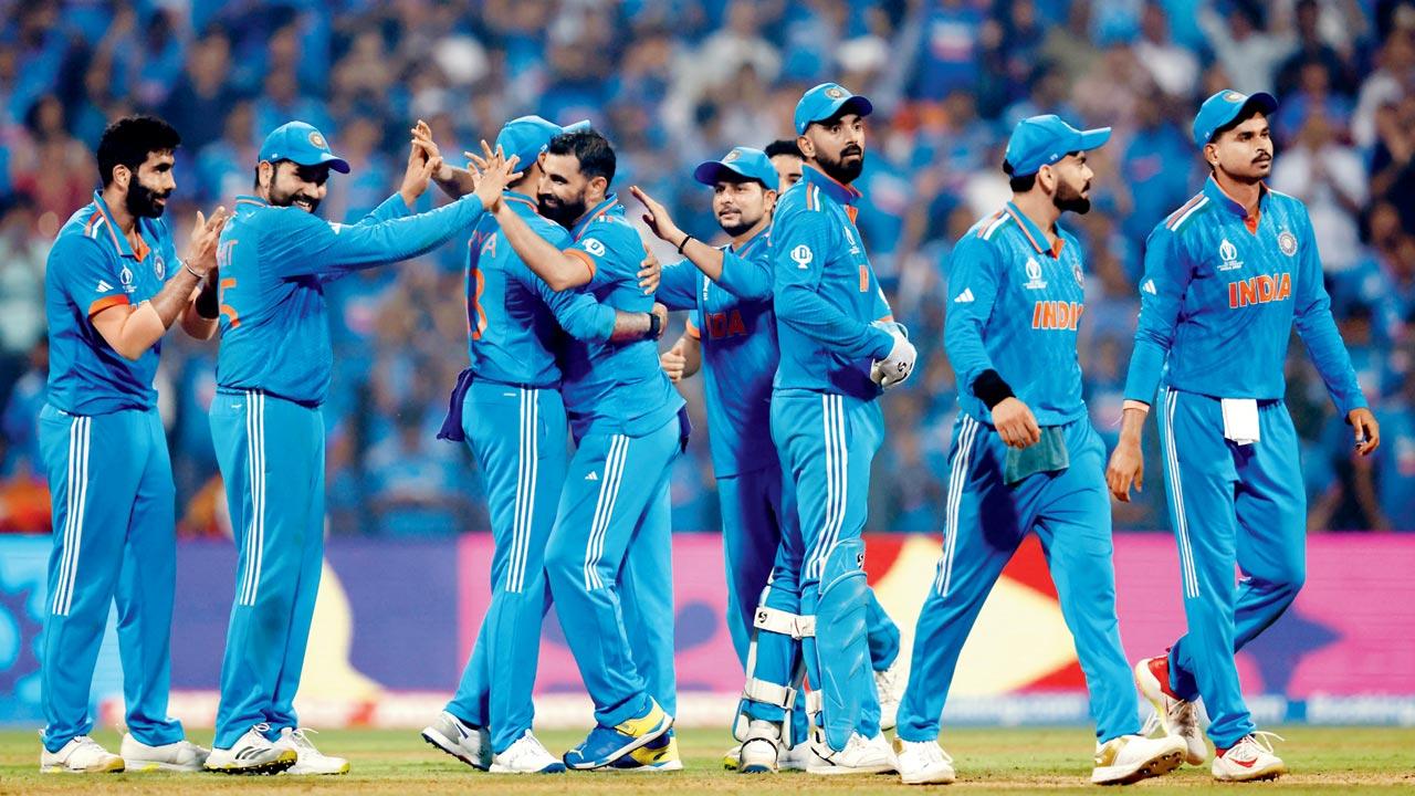
[{"label": "rightmost player in blue, white cloth hanging from his waist", "polygon": [[1194,707],[1203,697],[1211,772],[1225,782],[1286,772],[1271,734],[1254,727],[1234,653],[1282,616],[1306,578],[1306,493],[1282,401],[1293,327],[1351,425],[1356,453],[1370,456],[1381,442],[1332,320],[1307,210],[1264,183],[1276,108],[1268,93],[1220,91],[1194,116],[1210,178],[1146,244],[1121,439],[1107,472],[1118,500],[1142,486],[1140,432],[1157,405],[1189,633],[1169,654],[1139,661],[1135,677],[1166,731],[1186,739],[1191,765],[1208,756]]}]

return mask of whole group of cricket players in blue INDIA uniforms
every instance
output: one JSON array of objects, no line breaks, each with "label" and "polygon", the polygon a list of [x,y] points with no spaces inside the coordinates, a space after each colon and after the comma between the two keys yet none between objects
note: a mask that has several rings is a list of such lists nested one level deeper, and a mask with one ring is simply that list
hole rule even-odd
[{"label": "whole group of cricket players in blue INDIA uniforms", "polygon": [[[1276,101],[1223,91],[1194,119],[1211,176],[1149,238],[1109,455],[1081,397],[1085,252],[1060,225],[1090,211],[1087,153],[1109,129],[1051,115],[1017,123],[1002,163],[1012,201],[948,262],[944,346],[959,412],[941,555],[903,688],[900,633],[863,567],[880,401],[916,360],[855,224],[872,110],[822,84],[797,105],[794,140],[702,163],[692,176],[712,191],[722,246],[630,188],[644,227],[682,258],[666,266],[630,222],[614,149],[589,123],[512,119],[466,169],[419,123],[399,191],[357,224],[331,224],[316,210],[330,171],[350,166],[320,130],[290,122],[262,144],[252,195],[229,214],[198,214],[180,255],[163,220],[178,133],[150,116],[110,125],[102,187],[61,229],[45,283],[52,364],[40,435],[55,533],[41,771],[350,771],[294,711],[325,533],[324,285],[471,231],[468,367],[439,436],[466,442],[485,477],[492,598],[454,697],[422,732],[433,746],[498,773],[683,768],[668,487],[692,433],[674,384],[700,370],[744,676],[727,768],[952,782],[938,735],[958,656],[1036,533],[1091,695],[1094,783],[1207,762],[1200,700],[1214,779],[1285,773],[1275,737],[1244,704],[1234,652],[1305,578],[1298,438],[1283,405],[1293,327],[1357,452],[1370,455],[1380,431],[1332,320],[1307,212],[1264,183]],[[453,201],[415,214],[432,184]],[[661,351],[669,310],[688,313],[686,333]],[[219,336],[211,431],[238,548],[211,749],[167,715],[175,494],[153,378],[178,322]],[[1152,408],[1189,632],[1132,669],[1111,499],[1143,484]],[[127,708],[116,755],[88,735],[113,601]],[[560,756],[532,731],[552,602],[594,708],[593,729]],[[1148,724],[1140,697],[1155,708]]]}]

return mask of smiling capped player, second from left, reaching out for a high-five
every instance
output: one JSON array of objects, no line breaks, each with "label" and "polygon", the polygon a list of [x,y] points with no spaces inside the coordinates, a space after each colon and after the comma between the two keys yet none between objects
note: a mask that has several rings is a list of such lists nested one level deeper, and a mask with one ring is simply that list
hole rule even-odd
[{"label": "smiling capped player, second from left, reaching out for a high-five", "polygon": [[347,174],[348,163],[320,130],[289,122],[266,136],[255,195],[236,200],[222,231],[211,435],[239,555],[211,771],[348,772],[348,761],[314,748],[294,712],[324,557],[324,282],[447,242],[511,177],[495,159],[474,197],[412,215],[437,166],[413,146],[398,193],[358,224],[331,224],[314,211],[330,171]]}]

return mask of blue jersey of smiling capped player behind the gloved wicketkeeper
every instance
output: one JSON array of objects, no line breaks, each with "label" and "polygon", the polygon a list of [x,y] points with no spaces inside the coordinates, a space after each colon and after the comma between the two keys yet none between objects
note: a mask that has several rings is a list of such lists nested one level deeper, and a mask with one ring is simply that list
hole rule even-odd
[{"label": "blue jersey of smiling capped player behind the gloved wicketkeeper", "polygon": [[717,477],[777,462],[771,442],[771,381],[781,360],[771,310],[771,241],[764,229],[722,252],[717,282],[685,261],[664,269],[655,296],[689,310],[688,333],[702,341],[708,442]]}]

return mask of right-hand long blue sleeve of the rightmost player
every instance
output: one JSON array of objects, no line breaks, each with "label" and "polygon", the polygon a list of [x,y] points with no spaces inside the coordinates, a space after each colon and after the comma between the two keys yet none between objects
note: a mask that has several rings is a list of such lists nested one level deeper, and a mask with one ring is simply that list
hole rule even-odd
[{"label": "right-hand long blue sleeve of the rightmost player", "polygon": [[1365,395],[1351,367],[1351,356],[1341,341],[1336,320],[1332,317],[1332,297],[1322,282],[1322,255],[1312,232],[1312,221],[1303,214],[1298,244],[1298,275],[1293,293],[1293,324],[1302,344],[1312,357],[1312,364],[1322,374],[1332,402],[1344,418],[1351,409],[1364,408]]}]

